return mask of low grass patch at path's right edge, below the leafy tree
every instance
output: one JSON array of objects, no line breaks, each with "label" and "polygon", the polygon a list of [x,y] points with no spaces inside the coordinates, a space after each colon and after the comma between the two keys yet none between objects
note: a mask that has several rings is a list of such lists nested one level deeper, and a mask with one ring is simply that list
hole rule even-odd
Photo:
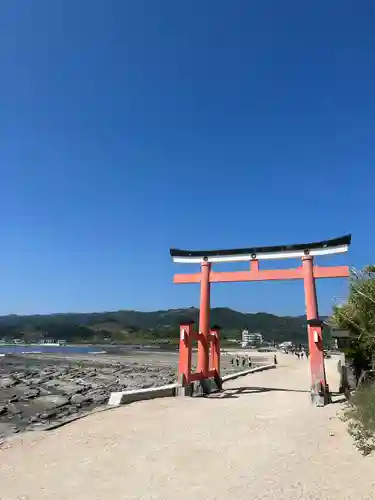
[{"label": "low grass patch at path's right edge, below the leafy tree", "polygon": [[344,412],[348,431],[355,446],[363,455],[375,450],[375,383],[366,384],[350,398],[350,407]]}]

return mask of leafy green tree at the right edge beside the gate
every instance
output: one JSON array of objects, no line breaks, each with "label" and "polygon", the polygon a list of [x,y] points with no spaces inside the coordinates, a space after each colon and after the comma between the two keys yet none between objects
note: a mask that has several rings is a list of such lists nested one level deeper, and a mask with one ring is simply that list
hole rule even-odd
[{"label": "leafy green tree at the right edge beside the gate", "polygon": [[349,298],[335,306],[333,326],[348,330],[352,336],[348,353],[358,369],[375,369],[375,266],[362,271],[353,270],[350,276]]}]

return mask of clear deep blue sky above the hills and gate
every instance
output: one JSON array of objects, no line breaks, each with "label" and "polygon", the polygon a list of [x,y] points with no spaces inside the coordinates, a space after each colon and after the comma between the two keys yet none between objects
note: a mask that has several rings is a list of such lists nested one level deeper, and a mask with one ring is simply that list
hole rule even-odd
[{"label": "clear deep blue sky above the hills and gate", "polygon": [[[171,246],[352,232],[326,263],[374,262],[374,18],[372,0],[3,0],[0,314],[197,305]],[[302,283],[213,288],[304,312]],[[345,293],[320,283],[321,312]]]}]

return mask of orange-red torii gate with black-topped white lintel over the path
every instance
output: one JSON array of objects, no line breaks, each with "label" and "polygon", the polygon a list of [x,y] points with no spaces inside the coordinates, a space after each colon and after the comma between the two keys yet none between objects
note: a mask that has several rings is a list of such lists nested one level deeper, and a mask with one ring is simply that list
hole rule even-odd
[{"label": "orange-red torii gate with black-topped white lintel over the path", "polygon": [[[218,332],[210,331],[210,285],[211,283],[228,283],[235,281],[268,281],[303,279],[305,288],[307,332],[310,350],[311,398],[318,406],[329,402],[322,339],[322,322],[319,319],[316,297],[315,279],[347,278],[348,266],[321,267],[314,265],[314,257],[339,254],[348,251],[351,235],[341,238],[302,243],[297,245],[281,245],[256,248],[239,248],[233,250],[178,250],[170,249],[173,262],[182,264],[200,264],[201,271],[195,274],[175,274],[174,283],[200,283],[199,333],[192,334],[191,326],[181,327],[180,340],[180,374],[186,375],[185,381],[208,379],[216,373],[220,376],[220,349]],[[295,269],[260,270],[260,260],[300,258],[302,265]],[[234,272],[217,272],[212,264],[222,262],[249,262],[250,270]],[[185,335],[187,335],[185,337]],[[198,340],[197,372],[190,375],[191,336]],[[210,357],[210,343],[216,341]],[[188,340],[189,339],[189,340]],[[211,366],[210,366],[211,359]],[[212,360],[216,359],[215,366]],[[186,365],[186,366],[185,366]]]}]

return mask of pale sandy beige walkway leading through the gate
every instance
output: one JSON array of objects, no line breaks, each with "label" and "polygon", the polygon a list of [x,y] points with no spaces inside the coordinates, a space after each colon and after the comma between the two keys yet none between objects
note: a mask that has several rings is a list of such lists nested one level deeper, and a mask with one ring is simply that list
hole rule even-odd
[{"label": "pale sandy beige walkway leading through the gate", "polygon": [[373,500],[375,458],[310,405],[307,362],[97,413],[0,451],[1,500]]}]

